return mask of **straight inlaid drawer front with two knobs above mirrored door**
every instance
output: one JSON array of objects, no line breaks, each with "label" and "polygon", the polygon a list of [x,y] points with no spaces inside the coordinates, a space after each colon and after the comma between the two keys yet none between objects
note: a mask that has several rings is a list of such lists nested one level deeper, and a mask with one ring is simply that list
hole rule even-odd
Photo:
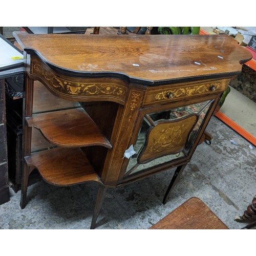
[{"label": "straight inlaid drawer front with two knobs above mirrored door", "polygon": [[145,93],[143,105],[152,103],[167,103],[170,100],[182,99],[191,96],[222,92],[226,89],[229,79],[207,81],[203,83],[185,84],[180,86],[163,86],[159,90],[148,90]]}]

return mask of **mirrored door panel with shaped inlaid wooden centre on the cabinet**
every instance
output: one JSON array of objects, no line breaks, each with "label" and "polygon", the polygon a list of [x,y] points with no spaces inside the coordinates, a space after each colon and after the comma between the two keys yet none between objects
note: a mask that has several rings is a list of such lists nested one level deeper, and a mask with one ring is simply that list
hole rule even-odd
[{"label": "mirrored door panel with shaped inlaid wooden centre on the cabinet", "polygon": [[124,179],[188,156],[214,100],[146,114]]}]

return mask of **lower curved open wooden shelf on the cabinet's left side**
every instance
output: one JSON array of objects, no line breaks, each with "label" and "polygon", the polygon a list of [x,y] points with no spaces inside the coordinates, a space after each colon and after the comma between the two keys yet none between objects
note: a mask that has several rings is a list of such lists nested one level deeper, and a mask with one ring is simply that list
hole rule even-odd
[{"label": "lower curved open wooden shelf on the cabinet's left side", "polygon": [[42,178],[53,185],[67,186],[101,180],[80,148],[56,147],[25,157]]}]

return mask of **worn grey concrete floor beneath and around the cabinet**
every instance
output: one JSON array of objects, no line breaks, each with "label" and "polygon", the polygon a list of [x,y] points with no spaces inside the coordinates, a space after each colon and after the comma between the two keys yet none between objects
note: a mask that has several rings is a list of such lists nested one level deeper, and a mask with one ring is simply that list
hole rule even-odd
[{"label": "worn grey concrete floor beneath and around the cabinet", "polygon": [[[244,227],[233,218],[243,214],[256,194],[256,149],[216,117],[206,131],[214,136],[211,144],[198,146],[165,205],[173,169],[109,189],[96,229],[148,229],[190,197],[200,198],[230,229]],[[20,191],[10,190],[10,201],[0,205],[0,229],[89,229],[97,187],[40,181],[29,186],[25,209],[19,207]]]}]

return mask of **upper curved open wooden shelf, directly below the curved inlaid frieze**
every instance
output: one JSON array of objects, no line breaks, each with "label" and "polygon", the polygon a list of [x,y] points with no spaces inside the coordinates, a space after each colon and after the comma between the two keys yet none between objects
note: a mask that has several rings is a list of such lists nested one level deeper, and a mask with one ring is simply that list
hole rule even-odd
[{"label": "upper curved open wooden shelf, directly below the curved inlaid frieze", "polygon": [[40,130],[49,142],[58,146],[112,148],[83,108],[33,114],[26,121],[30,127]]}]

